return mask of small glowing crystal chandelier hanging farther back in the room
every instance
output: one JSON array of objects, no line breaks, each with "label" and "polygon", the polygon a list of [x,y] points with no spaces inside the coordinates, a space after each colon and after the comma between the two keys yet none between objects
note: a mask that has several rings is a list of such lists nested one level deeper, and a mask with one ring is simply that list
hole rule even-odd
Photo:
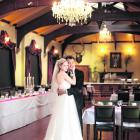
[{"label": "small glowing crystal chandelier hanging farther back in the room", "polygon": [[111,32],[107,29],[105,24],[103,25],[102,30],[99,32],[99,40],[103,42],[111,40]]}]

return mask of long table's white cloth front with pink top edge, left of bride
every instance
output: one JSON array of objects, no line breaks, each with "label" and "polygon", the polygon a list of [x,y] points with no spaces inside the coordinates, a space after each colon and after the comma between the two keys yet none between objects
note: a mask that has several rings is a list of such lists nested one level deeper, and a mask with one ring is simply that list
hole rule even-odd
[{"label": "long table's white cloth front with pink top edge, left of bride", "polygon": [[46,93],[0,100],[0,135],[51,114],[52,99],[52,95]]}]

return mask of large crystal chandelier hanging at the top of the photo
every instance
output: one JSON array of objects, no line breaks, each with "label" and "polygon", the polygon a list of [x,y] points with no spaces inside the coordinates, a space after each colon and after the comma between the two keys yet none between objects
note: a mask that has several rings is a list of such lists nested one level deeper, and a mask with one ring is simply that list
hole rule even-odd
[{"label": "large crystal chandelier hanging at the top of the photo", "polygon": [[84,0],[61,0],[54,2],[52,6],[53,17],[57,22],[66,22],[66,25],[86,24],[91,18],[92,7]]}]

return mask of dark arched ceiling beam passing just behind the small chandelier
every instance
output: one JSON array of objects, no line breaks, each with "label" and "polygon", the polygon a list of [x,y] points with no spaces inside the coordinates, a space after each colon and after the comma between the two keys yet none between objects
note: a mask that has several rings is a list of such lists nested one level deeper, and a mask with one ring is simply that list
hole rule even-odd
[{"label": "dark arched ceiling beam passing just behind the small chandelier", "polygon": [[[108,25],[107,28],[111,32],[122,32],[122,33],[132,33],[132,34],[140,33],[140,25]],[[73,28],[66,26],[46,35],[46,42],[45,42],[44,49],[46,50],[46,47],[50,43],[50,41],[54,40],[58,36],[62,36],[65,34],[79,34],[79,33],[93,34],[97,32],[99,32],[98,25],[75,26]]]}]

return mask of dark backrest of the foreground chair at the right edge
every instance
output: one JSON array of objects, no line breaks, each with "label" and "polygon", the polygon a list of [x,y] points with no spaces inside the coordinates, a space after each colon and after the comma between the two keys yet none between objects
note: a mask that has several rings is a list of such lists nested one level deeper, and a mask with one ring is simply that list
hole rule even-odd
[{"label": "dark backrest of the foreground chair at the right edge", "polygon": [[121,118],[123,122],[140,122],[140,109],[138,106],[122,106]]}]

